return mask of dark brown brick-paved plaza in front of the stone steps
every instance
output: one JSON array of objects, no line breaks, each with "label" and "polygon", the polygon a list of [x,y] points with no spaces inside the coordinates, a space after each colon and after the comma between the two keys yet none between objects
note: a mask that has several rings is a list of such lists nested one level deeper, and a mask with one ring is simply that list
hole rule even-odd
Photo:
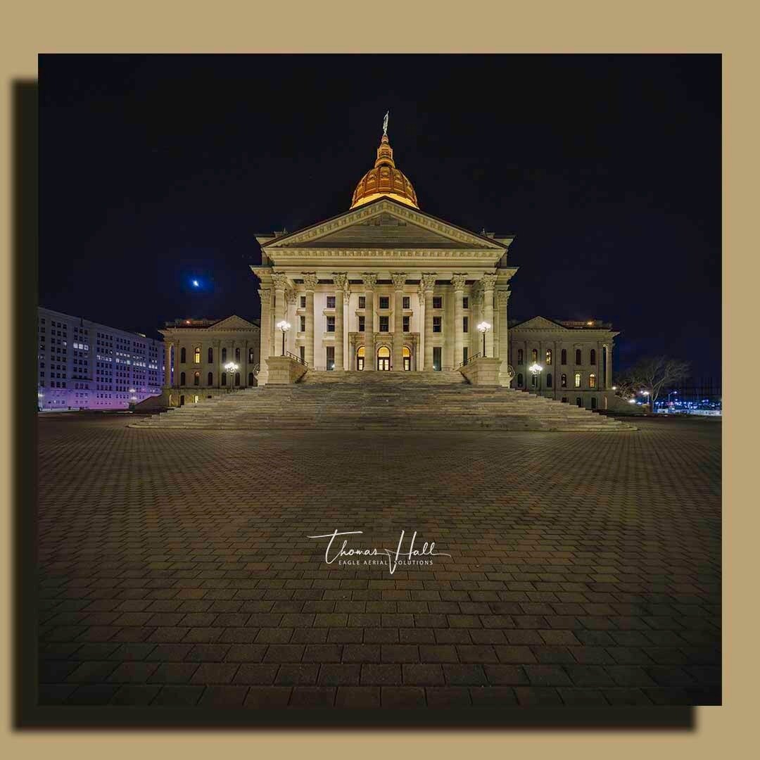
[{"label": "dark brown brick-paved plaza in front of the stone steps", "polygon": [[[720,423],[129,420],[38,422],[41,704],[720,702]],[[333,530],[389,549],[416,530],[451,558],[327,565],[307,537]]]}]

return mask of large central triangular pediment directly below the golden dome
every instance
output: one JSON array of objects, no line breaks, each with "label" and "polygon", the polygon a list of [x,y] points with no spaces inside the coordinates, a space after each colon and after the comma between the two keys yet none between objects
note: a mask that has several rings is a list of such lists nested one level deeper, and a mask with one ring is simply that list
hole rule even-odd
[{"label": "large central triangular pediment directly below the golden dome", "polygon": [[277,237],[265,242],[263,247],[268,252],[277,249],[505,251],[508,242],[471,233],[418,209],[382,198],[305,230]]}]

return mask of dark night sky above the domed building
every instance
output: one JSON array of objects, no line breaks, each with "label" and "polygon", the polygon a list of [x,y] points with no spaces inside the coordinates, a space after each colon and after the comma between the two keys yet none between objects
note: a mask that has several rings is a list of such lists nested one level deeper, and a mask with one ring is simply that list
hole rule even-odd
[{"label": "dark night sky above the domed building", "polygon": [[257,318],[255,233],[347,211],[388,109],[423,211],[517,235],[510,318],[719,381],[718,55],[43,55],[40,304]]}]

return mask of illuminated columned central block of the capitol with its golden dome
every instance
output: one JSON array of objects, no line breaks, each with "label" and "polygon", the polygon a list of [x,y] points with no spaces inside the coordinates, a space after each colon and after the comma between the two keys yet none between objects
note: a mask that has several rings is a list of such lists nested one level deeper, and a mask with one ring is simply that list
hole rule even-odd
[{"label": "illuminated columned central block of the capitol with its golden dome", "polygon": [[[286,352],[312,369],[455,369],[482,353],[477,321],[492,325],[486,355],[507,378],[507,264],[514,236],[473,233],[420,211],[387,135],[349,211],[295,233],[258,236],[261,372]],[[502,350],[503,348],[503,350]]]}]

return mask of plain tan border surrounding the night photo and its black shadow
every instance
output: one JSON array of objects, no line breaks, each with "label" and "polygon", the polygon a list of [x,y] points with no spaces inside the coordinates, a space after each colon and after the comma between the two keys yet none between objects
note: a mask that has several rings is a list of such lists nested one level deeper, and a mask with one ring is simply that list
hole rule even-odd
[{"label": "plain tan border surrounding the night photo and its black shadow", "polygon": [[[6,757],[119,758],[172,755],[182,760],[234,753],[238,757],[308,756],[369,760],[404,753],[439,758],[512,756],[641,758],[688,753],[718,758],[749,755],[756,746],[758,689],[757,496],[750,458],[758,449],[752,423],[754,390],[736,394],[734,375],[758,377],[754,332],[757,301],[752,275],[758,245],[758,19],[742,0],[639,0],[635,3],[481,2],[450,0],[380,3],[233,2],[197,0],[34,0],[4,4],[0,32],[2,154],[5,204],[0,309],[11,345],[11,82],[36,78],[40,52],[712,52],[723,54],[724,81],[724,706],[699,708],[693,731],[643,730],[236,730],[223,732],[57,730],[13,732],[11,723],[11,464],[2,458],[2,749]],[[297,6],[297,7],[294,7]],[[347,66],[356,65],[347,59]],[[265,72],[262,72],[265,75]],[[413,76],[410,71],[410,76]],[[371,83],[368,83],[371,86]],[[424,87],[424,82],[420,82]],[[255,97],[256,83],[251,83]],[[493,82],[494,101],[508,100],[509,81]],[[346,93],[350,98],[351,93]],[[451,108],[457,104],[452,98]],[[484,107],[488,107],[485,106]],[[508,119],[508,112],[492,112]],[[625,150],[625,146],[620,146]],[[698,162],[699,156],[694,160]],[[645,252],[643,252],[644,255]],[[716,256],[721,252],[716,251]],[[749,271],[749,268],[752,271]],[[754,296],[754,299],[753,299]],[[648,308],[642,297],[642,308]],[[699,304],[695,302],[694,308]],[[755,312],[755,309],[752,309]],[[670,325],[677,330],[679,325]],[[8,353],[5,353],[8,361]],[[8,409],[11,373],[3,372],[2,447],[12,451]],[[742,404],[739,407],[739,404]],[[736,407],[736,416],[733,414]],[[740,413],[739,413],[740,412]],[[756,456],[755,456],[756,458]],[[754,458],[753,458],[754,459]],[[631,708],[635,709],[635,708]],[[736,746],[732,746],[736,745]],[[739,749],[739,746],[746,749]],[[736,752],[736,750],[739,750]]]}]

